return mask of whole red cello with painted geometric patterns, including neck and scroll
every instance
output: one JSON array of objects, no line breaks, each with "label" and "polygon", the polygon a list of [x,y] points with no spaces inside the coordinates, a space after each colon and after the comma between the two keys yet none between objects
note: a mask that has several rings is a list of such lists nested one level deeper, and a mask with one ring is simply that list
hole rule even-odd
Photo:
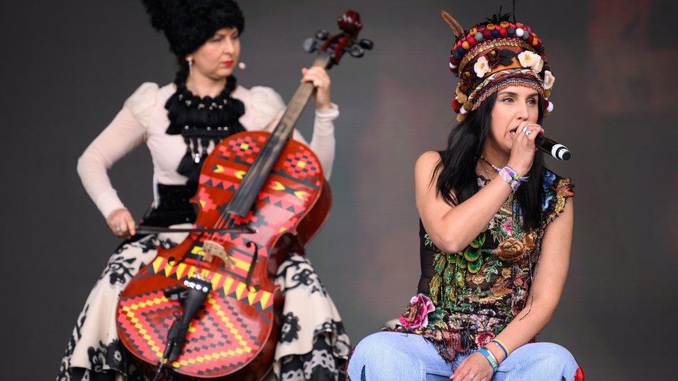
[{"label": "whole red cello with painted geometric patterns, including neck and scroll", "polygon": [[[357,40],[357,12],[338,24],[337,35],[316,33],[322,44],[304,42],[318,51],[313,65],[329,69],[346,51],[372,49]],[[290,253],[304,252],[331,206],[317,157],[290,139],[312,93],[311,83],[299,85],[272,133],[238,133],[215,146],[191,200],[197,231],[158,247],[120,295],[119,338],[155,379],[259,380],[270,370],[283,301],[272,279]]]}]

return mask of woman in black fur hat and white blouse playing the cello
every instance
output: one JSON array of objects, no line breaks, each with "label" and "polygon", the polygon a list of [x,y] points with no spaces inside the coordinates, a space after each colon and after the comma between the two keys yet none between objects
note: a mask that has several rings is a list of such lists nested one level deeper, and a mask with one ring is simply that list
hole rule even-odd
[{"label": "woman in black fur hat and white blouse playing the cello", "polygon": [[[232,0],[151,1],[144,6],[179,62],[173,83],[144,83],[78,160],[78,174],[108,227],[123,242],[113,253],[76,321],[57,380],[143,380],[119,341],[119,293],[156,247],[178,244],[185,234],[137,235],[135,219],[110,184],[107,170],[145,142],[154,166],[154,202],[142,221],[151,226],[191,223],[188,199],[208,153],[224,137],[244,130],[272,130],[286,105],[270,87],[238,86],[242,12]],[[329,178],[335,151],[330,79],[320,67],[302,69],[315,86],[311,143]],[[295,131],[294,139],[304,142]],[[342,375],[349,339],[311,263],[295,254],[279,267],[276,285],[285,296],[274,373],[285,380],[335,380]]]}]

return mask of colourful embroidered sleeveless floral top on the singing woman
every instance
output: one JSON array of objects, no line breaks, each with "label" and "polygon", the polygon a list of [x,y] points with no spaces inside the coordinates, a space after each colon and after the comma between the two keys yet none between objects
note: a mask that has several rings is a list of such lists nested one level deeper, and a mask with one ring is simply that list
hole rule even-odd
[{"label": "colourful embroidered sleeveless floral top on the singing woman", "polygon": [[[445,154],[444,152],[441,155]],[[478,178],[479,187],[489,180]],[[541,226],[522,229],[513,194],[488,226],[458,253],[438,249],[420,226],[422,275],[419,294],[400,316],[397,332],[429,339],[448,362],[487,344],[527,306],[527,296],[539,260],[541,241],[549,222],[574,196],[570,179],[543,171]]]}]

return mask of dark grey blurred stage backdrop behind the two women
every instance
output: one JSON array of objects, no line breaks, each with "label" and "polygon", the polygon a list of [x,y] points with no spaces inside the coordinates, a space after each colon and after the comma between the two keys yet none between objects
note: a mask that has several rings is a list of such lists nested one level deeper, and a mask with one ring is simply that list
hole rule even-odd
[{"label": "dark grey blurred stage backdrop behind the two women", "polygon": [[[241,1],[242,85],[290,99],[311,57],[301,42],[361,12],[365,58],[331,71],[337,155],[329,223],[308,255],[354,343],[402,312],[418,277],[413,163],[442,149],[456,81],[452,34],[511,1]],[[590,380],[678,370],[675,1],[518,1],[556,76],[547,133],[568,144],[575,198],[570,276],[540,335]],[[140,1],[3,1],[0,15],[0,379],[50,380],[90,287],[119,243],[85,194],[76,160],[140,83],[168,83],[174,58]],[[311,110],[299,124],[310,137]],[[110,176],[135,217],[151,201],[142,146]]]}]

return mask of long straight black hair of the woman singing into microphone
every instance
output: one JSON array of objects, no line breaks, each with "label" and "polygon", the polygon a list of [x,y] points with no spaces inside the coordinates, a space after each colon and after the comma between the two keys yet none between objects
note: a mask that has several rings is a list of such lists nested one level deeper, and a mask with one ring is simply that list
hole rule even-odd
[{"label": "long straight black hair of the woman singing into microphone", "polygon": [[[441,160],[433,171],[434,177],[436,173],[440,173],[436,183],[436,194],[440,194],[449,205],[463,203],[479,190],[476,166],[490,133],[490,117],[496,99],[496,93],[488,97],[477,110],[469,112],[466,119],[449,133],[447,152],[441,155]],[[538,109],[537,123],[541,124],[543,119],[541,96],[539,96]],[[522,213],[522,226],[525,230],[534,230],[542,222],[543,169],[545,169],[544,156],[541,151],[537,151],[532,167],[527,173],[529,179],[515,192],[515,199]]]}]

